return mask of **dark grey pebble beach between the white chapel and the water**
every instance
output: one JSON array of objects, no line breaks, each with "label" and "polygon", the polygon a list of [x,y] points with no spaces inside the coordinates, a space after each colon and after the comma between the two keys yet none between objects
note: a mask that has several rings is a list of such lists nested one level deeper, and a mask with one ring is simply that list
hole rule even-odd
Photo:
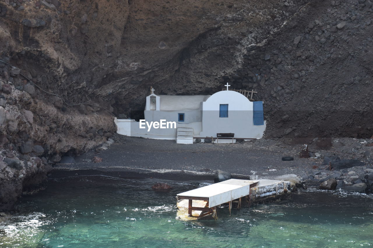
[{"label": "dark grey pebble beach between the white chapel and the water", "polygon": [[[237,179],[292,177],[299,182],[299,187],[304,184],[305,187],[317,188],[321,182],[330,178],[336,178],[339,184],[348,186],[364,176],[373,179],[373,174],[367,172],[373,169],[370,155],[372,143],[372,139],[338,138],[331,140],[330,147],[322,149],[317,147],[316,141],[309,145],[309,149],[319,156],[299,158],[298,152],[302,145],[286,140],[184,145],[172,140],[151,140],[117,134],[109,145],[104,144],[75,158],[70,157],[71,163],[53,165],[47,178],[104,175],[126,179],[156,178],[160,182],[213,181],[215,171],[222,170]],[[102,162],[94,163],[95,156],[102,159]],[[293,156],[294,160],[282,161],[282,156]],[[363,161],[363,165],[329,171],[325,159],[333,156],[358,159]]]}]

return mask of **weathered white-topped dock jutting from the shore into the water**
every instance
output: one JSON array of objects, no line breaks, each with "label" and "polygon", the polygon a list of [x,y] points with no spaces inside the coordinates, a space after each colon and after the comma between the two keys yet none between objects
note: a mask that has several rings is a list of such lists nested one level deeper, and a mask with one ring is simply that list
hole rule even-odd
[{"label": "weathered white-topped dock jutting from the shore into the water", "polygon": [[291,183],[287,181],[259,179],[229,179],[216,184],[189,190],[176,196],[178,218],[196,220],[207,215],[216,216],[216,207],[228,203],[240,208],[254,202],[265,202],[279,198],[290,192]]}]

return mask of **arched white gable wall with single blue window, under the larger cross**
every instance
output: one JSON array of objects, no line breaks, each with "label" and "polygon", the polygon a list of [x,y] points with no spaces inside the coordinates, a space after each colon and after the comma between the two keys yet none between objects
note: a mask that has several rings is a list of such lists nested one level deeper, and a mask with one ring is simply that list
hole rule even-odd
[{"label": "arched white gable wall with single blue window, under the larger cross", "polygon": [[[219,117],[220,104],[228,104],[228,117]],[[216,137],[217,133],[234,133],[236,138],[260,139],[265,128],[266,122],[264,125],[254,125],[253,102],[241,93],[222,90],[203,102],[200,137]]]}]

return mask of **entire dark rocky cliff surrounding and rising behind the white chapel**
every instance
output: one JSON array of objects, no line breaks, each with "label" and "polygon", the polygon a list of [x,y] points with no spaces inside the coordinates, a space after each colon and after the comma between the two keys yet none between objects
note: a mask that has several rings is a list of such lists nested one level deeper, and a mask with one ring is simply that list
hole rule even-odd
[{"label": "entire dark rocky cliff surrounding and rising behind the white chapel", "polygon": [[372,12],[370,0],[0,0],[3,158],[47,165],[104,142],[104,109],[134,115],[150,86],[255,89],[267,137],[370,137]]}]

